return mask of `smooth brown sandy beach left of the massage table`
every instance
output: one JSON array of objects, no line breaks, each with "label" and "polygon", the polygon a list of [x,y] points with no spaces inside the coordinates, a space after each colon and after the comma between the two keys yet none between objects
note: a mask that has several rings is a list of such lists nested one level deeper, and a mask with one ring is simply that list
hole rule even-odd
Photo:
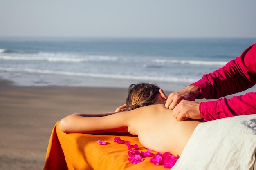
[{"label": "smooth brown sandy beach left of the massage table", "polygon": [[127,89],[0,83],[0,169],[41,170],[52,128],[72,113],[115,111]]}]

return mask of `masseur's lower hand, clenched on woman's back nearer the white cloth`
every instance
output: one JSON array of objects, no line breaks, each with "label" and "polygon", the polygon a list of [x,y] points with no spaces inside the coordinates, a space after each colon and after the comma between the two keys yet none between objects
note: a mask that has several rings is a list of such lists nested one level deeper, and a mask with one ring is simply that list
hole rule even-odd
[{"label": "masseur's lower hand, clenched on woman's back nearer the white cloth", "polygon": [[173,109],[173,117],[178,121],[184,121],[188,118],[202,119],[199,112],[199,103],[195,101],[182,100]]}]

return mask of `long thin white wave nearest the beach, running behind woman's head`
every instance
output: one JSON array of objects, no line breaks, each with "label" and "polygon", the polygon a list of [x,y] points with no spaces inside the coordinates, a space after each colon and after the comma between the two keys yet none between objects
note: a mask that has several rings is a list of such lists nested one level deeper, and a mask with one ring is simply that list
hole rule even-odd
[{"label": "long thin white wave nearest the beach, running behind woman's head", "polygon": [[38,74],[53,74],[53,75],[67,75],[67,76],[81,76],[107,79],[132,79],[139,81],[159,81],[159,82],[195,82],[195,79],[177,78],[177,77],[152,77],[152,76],[132,76],[132,75],[110,75],[110,74],[95,74],[95,73],[77,73],[69,71],[53,71],[53,70],[38,70],[29,68],[2,68],[1,71],[15,71]]}]

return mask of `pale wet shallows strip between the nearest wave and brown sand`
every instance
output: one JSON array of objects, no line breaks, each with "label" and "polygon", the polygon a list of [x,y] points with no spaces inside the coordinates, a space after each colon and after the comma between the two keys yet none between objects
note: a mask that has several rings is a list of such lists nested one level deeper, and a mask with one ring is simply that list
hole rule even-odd
[{"label": "pale wet shallows strip between the nearest wave and brown sand", "polygon": [[[36,86],[36,87],[99,87],[99,88],[128,88],[130,84],[145,82],[157,84],[164,91],[178,91],[185,88],[189,83],[168,82],[168,81],[144,81],[137,79],[112,79],[112,78],[97,78],[97,77],[35,77],[29,76],[26,78],[6,78],[0,76],[0,85],[5,83],[10,86]],[[192,83],[192,82],[191,82]]]}]

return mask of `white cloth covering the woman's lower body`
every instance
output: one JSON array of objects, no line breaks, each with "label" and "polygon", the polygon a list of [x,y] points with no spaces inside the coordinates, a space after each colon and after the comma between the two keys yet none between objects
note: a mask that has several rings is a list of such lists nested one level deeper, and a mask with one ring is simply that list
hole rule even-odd
[{"label": "white cloth covering the woman's lower body", "polygon": [[171,170],[253,170],[256,115],[199,124]]}]

